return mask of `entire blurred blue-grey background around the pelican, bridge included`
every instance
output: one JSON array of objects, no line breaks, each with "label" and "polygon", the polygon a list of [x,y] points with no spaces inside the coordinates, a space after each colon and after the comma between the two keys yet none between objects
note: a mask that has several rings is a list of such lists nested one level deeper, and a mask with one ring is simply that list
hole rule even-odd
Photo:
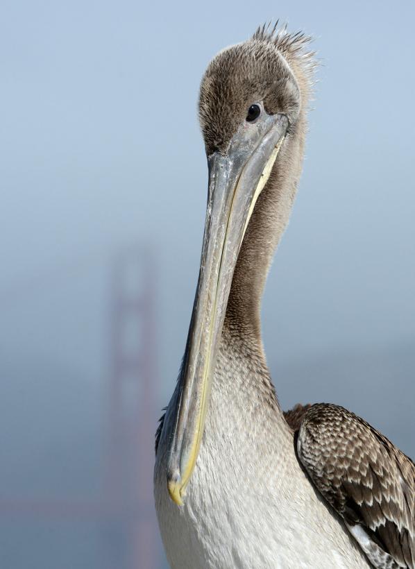
[{"label": "entire blurred blue-grey background around the pelican, bridge included", "polygon": [[414,3],[3,0],[0,15],[1,568],[167,567],[153,433],[198,273],[198,85],[276,17],[322,60],[263,305],[280,401],[344,405],[414,456]]}]

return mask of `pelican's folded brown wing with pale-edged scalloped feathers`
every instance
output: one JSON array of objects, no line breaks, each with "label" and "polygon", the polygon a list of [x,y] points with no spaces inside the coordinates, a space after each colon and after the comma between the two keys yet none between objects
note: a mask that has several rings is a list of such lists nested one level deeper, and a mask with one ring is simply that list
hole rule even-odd
[{"label": "pelican's folded brown wing with pale-edged scalloped feathers", "polygon": [[376,568],[415,568],[415,465],[357,417],[319,403],[303,414],[298,458]]}]

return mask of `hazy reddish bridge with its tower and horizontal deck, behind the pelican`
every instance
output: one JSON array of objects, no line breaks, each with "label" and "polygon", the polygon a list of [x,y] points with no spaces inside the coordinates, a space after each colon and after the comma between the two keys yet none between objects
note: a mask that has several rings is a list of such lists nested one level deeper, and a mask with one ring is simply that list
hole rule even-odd
[{"label": "hazy reddish bridge with its tower and horizontal deck, behind the pelican", "polygon": [[0,498],[2,516],[98,520],[108,537],[106,569],[160,569],[162,563],[153,506],[154,432],[160,415],[155,407],[156,310],[155,255],[151,248],[122,249],[111,268],[108,428],[101,498]]}]

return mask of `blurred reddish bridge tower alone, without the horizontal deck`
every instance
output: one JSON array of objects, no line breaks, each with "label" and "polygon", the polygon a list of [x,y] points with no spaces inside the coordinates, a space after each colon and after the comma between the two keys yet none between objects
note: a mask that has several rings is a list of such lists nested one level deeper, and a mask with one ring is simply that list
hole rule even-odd
[{"label": "blurred reddish bridge tower alone, without the horizontal deck", "polygon": [[[153,502],[156,274],[148,248],[121,250],[112,266],[110,448],[106,493],[127,569],[158,569],[160,538]],[[127,516],[126,516],[127,514]],[[109,569],[115,559],[108,559]]]}]

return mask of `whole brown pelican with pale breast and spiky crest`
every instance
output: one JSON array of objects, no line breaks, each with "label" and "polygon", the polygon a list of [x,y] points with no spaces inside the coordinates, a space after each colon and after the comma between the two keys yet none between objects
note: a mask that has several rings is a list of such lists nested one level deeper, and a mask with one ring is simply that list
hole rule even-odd
[{"label": "whole brown pelican with pale breast and spiky crest", "polygon": [[278,405],[260,300],[303,159],[313,54],[259,28],[201,83],[209,167],[201,266],[156,439],[172,568],[415,567],[414,463],[336,405]]}]

